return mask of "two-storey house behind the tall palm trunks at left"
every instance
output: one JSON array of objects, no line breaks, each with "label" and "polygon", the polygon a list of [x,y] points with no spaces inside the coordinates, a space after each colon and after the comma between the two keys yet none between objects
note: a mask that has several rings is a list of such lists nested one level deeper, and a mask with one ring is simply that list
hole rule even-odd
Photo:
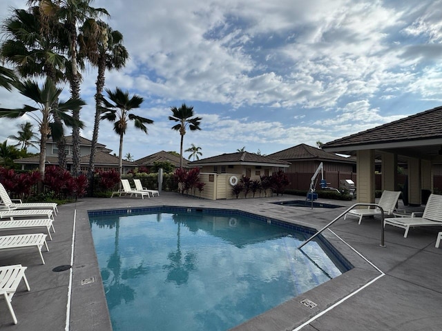
[{"label": "two-storey house behind the tall palm trunks at left", "polygon": [[[80,137],[80,169],[86,174],[89,170],[90,147],[92,141]],[[118,170],[118,157],[110,154],[109,150],[102,143],[97,143],[97,154],[95,154],[95,171],[99,170]],[[66,137],[66,163],[68,170],[73,165],[73,142],[72,136]],[[24,159],[14,160],[15,163],[21,164],[21,170],[34,170],[39,166],[39,157],[26,157]],[[46,142],[46,165],[58,165],[58,148],[57,143],[51,138]],[[126,173],[137,166],[136,163],[123,160],[123,172]]]}]

